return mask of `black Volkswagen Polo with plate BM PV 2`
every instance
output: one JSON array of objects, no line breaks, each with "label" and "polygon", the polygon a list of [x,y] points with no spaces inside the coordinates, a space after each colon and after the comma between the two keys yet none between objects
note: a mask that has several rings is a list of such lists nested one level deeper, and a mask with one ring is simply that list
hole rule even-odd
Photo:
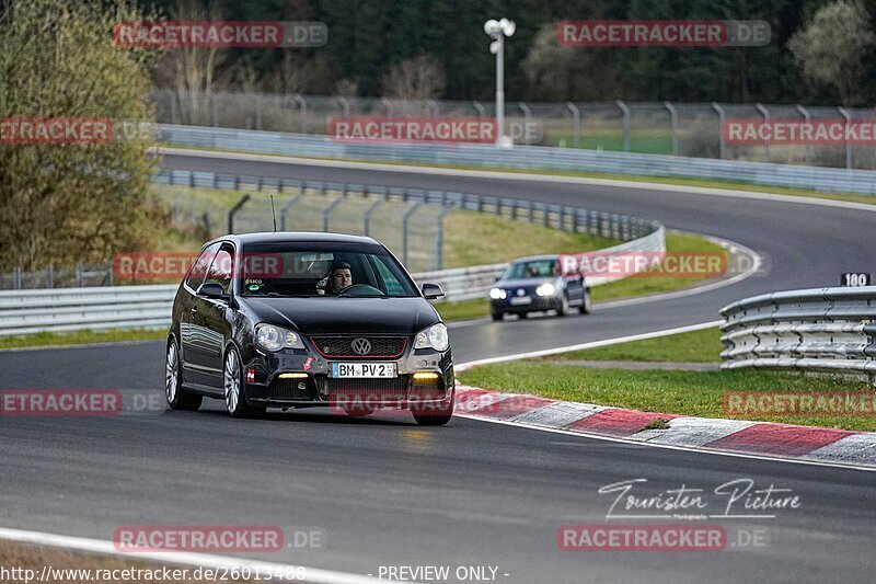
[{"label": "black Volkswagen Polo with plate BM PV 2", "polygon": [[378,241],[333,233],[247,233],[208,242],[180,285],[168,336],[174,410],[224,400],[233,417],[267,408],[334,406],[349,415],[410,410],[419,424],[453,412],[447,328]]}]

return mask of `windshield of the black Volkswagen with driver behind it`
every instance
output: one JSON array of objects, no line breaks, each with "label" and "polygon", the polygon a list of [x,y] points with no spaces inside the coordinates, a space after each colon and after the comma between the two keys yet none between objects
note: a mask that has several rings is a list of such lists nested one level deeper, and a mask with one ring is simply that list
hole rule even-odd
[{"label": "windshield of the black Volkswagen with driver behind it", "polygon": [[401,264],[380,245],[265,243],[243,248],[238,277],[243,296],[419,296]]}]

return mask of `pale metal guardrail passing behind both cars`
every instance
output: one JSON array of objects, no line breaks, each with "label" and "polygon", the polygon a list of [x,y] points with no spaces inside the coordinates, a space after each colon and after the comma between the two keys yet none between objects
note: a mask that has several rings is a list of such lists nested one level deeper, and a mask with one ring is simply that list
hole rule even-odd
[{"label": "pale metal guardrail passing behind both cars", "polygon": [[[645,237],[609,250],[664,251],[665,228],[654,224]],[[608,251],[608,250],[603,250]],[[446,299],[483,297],[507,264],[489,264],[412,274],[418,283],[434,282]],[[604,284],[600,278],[591,285]],[[611,278],[616,279],[616,278]],[[161,329],[170,325],[178,285],[114,286],[0,291],[0,336],[37,332],[107,329]]]}]

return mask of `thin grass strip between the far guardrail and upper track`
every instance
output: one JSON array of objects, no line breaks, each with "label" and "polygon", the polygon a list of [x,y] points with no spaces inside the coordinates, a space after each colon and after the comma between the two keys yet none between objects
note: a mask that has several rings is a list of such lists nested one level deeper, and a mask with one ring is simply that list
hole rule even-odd
[{"label": "thin grass strip between the far guardrail and upper track", "polygon": [[[266,154],[266,156],[288,156],[288,154],[280,154],[276,152],[250,152],[243,150],[222,150],[220,148],[200,148],[200,147],[188,147],[188,146],[173,146],[173,145],[163,145],[165,147],[178,148],[183,150],[212,150],[217,152],[240,152],[240,153],[256,153],[256,154]],[[750,184],[750,183],[740,183],[740,182],[733,182],[733,181],[712,181],[706,179],[687,179],[681,176],[641,176],[641,175],[627,175],[627,174],[612,174],[608,172],[576,172],[576,171],[561,171],[561,170],[550,170],[550,169],[508,169],[503,167],[473,167],[468,164],[430,164],[426,162],[396,162],[396,161],[384,161],[384,160],[366,160],[366,159],[358,159],[358,158],[320,158],[320,157],[306,157],[306,156],[296,156],[295,158],[313,158],[315,160],[337,160],[337,161],[345,161],[345,162],[366,162],[371,164],[388,164],[394,167],[423,167],[423,168],[441,168],[441,169],[458,169],[458,170],[483,170],[483,171],[494,171],[494,172],[508,172],[508,173],[517,173],[517,174],[544,174],[544,175],[553,175],[553,176],[576,176],[583,179],[607,179],[613,181],[631,181],[637,183],[654,183],[654,184],[673,184],[673,185],[687,185],[687,186],[702,186],[706,188],[725,188],[728,191],[750,191],[753,193],[766,193],[766,194],[775,194],[775,195],[792,195],[792,196],[802,196],[802,197],[812,197],[812,198],[828,198],[834,201],[849,201],[853,203],[864,203],[867,205],[876,205],[876,195],[856,195],[851,193],[840,193],[840,192],[820,192],[820,191],[812,191],[807,188],[792,188],[785,186],[763,186],[758,184]]]}]

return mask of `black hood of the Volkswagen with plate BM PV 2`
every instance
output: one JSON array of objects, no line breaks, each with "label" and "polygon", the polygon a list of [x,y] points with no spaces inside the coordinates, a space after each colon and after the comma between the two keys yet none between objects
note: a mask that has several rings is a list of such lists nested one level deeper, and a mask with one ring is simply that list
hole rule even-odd
[{"label": "black hood of the Volkswagen with plate BM PV 2", "polygon": [[303,334],[415,334],[439,322],[423,298],[241,298],[260,322]]}]

